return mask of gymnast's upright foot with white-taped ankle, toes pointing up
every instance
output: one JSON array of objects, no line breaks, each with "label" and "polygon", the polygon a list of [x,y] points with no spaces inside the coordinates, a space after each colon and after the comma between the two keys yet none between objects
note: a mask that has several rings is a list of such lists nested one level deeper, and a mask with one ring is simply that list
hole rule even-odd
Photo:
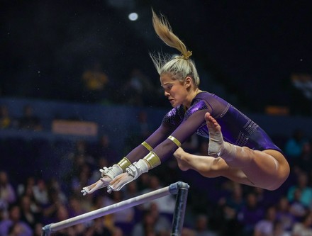
[{"label": "gymnast's upright foot with white-taped ankle, toes pointing up", "polygon": [[210,113],[205,114],[207,128],[209,130],[208,155],[211,157],[220,157],[223,151],[224,141],[221,133],[221,126]]}]

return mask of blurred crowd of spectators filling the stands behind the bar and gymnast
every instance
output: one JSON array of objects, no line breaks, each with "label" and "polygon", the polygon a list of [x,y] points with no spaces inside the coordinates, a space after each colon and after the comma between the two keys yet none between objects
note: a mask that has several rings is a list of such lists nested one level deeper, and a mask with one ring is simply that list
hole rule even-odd
[{"label": "blurred crowd of spectators filling the stands behind the bar and gymnast", "polygon": [[[1,129],[41,130],[40,118],[31,106],[21,118],[11,119],[1,106]],[[142,142],[151,130],[140,113],[136,133],[124,152]],[[291,164],[291,175],[277,191],[235,184],[228,179],[206,179],[182,172],[175,159],[143,174],[121,191],[100,189],[82,196],[82,187],[100,177],[99,169],[116,163],[117,150],[108,135],[97,142],[77,140],[0,139],[0,236],[41,235],[44,225],[57,223],[91,210],[184,181],[189,189],[182,235],[191,236],[308,236],[312,235],[312,146],[303,130],[285,137],[282,149]],[[207,140],[194,135],[184,150],[206,154]],[[52,235],[170,235],[175,198],[127,208],[89,220]]]}]

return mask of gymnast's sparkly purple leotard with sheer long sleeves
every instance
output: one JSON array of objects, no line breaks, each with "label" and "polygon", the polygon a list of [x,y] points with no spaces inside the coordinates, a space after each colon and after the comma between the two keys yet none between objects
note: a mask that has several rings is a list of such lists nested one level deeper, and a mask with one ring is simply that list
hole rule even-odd
[{"label": "gymnast's sparkly purple leotard with sheer long sleeves", "polygon": [[[181,143],[194,133],[209,137],[204,118],[206,112],[211,113],[211,116],[221,125],[225,141],[241,147],[250,147],[252,150],[272,149],[282,152],[259,125],[227,101],[206,91],[195,96],[187,111],[182,105],[169,111],[163,118],[160,128],[152,133],[145,142],[153,148],[153,152],[163,162],[171,157],[178,148],[172,140],[167,138],[169,135],[172,135]],[[148,152],[149,150],[146,147],[139,145],[126,157],[130,162],[134,162],[145,157]]]}]

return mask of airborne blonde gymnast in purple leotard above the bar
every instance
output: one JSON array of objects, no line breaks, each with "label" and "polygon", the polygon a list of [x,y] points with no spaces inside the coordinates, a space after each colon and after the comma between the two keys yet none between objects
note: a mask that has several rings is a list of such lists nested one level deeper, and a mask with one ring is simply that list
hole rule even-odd
[{"label": "airborne blonde gymnast in purple leotard above the bar", "polygon": [[[93,193],[105,186],[108,193],[119,191],[172,155],[182,171],[194,169],[208,178],[225,176],[240,184],[278,189],[289,176],[282,150],[237,108],[215,94],[201,91],[199,74],[190,59],[192,52],[174,35],[164,16],[152,11],[152,23],[160,39],[181,53],[175,57],[150,55],[173,108],[150,137],[118,164],[101,169],[101,179],[84,187],[82,193]],[[208,156],[189,154],[180,147],[194,133],[208,138]]]}]

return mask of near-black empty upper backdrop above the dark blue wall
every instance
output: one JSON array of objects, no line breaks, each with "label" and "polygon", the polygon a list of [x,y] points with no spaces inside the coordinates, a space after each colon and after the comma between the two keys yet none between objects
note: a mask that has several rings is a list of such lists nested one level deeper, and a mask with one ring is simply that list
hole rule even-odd
[{"label": "near-black empty upper backdrop above the dark blue wall", "polygon": [[[0,4],[1,96],[86,102],[81,77],[94,62],[101,62],[115,94],[133,68],[158,86],[148,53],[175,51],[152,29],[153,8],[193,51],[202,89],[246,111],[274,105],[311,113],[311,101],[291,84],[291,74],[312,73],[311,1]],[[138,21],[128,20],[132,11]]]}]

